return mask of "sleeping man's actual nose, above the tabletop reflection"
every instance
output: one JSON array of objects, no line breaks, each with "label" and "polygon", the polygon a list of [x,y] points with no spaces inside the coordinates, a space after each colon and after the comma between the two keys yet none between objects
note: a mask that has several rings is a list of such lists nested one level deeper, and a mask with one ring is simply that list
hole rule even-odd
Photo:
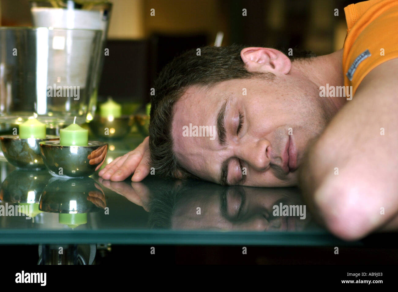
[{"label": "sleeping man's actual nose, above the tabletop reflection", "polygon": [[235,155],[258,171],[265,170],[270,163],[270,143],[265,139],[245,139],[236,145]]}]

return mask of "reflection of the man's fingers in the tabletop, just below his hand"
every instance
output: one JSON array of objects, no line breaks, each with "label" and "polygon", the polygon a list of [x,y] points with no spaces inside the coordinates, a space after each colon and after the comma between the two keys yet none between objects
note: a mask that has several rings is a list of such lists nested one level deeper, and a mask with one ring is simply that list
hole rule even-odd
[{"label": "reflection of the man's fingers in the tabletop, just below his hand", "polygon": [[112,182],[102,178],[99,178],[98,180],[105,188],[122,195],[148,212],[147,204],[149,200],[149,189],[144,184],[140,182],[132,182],[131,184],[128,184],[127,182]]}]

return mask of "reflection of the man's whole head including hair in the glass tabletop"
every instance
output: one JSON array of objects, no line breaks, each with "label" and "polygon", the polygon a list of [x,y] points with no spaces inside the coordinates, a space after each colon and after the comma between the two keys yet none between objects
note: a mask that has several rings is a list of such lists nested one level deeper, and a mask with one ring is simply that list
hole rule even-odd
[{"label": "reflection of the man's whole head including hair in the glass tabletop", "polygon": [[178,188],[152,195],[148,205],[149,224],[152,228],[258,231],[303,230],[314,224],[306,211],[304,217],[298,213],[295,216],[275,213],[275,206],[280,204],[303,205],[299,190],[227,188],[212,183],[195,184],[190,180]]}]

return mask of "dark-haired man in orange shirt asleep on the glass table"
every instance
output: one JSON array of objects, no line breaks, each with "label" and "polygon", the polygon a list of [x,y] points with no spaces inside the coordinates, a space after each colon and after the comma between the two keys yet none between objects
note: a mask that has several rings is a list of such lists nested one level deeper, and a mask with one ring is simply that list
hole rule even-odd
[{"label": "dark-haired man in orange shirt asleep on the glass table", "polygon": [[231,46],[176,58],[156,83],[149,141],[100,175],[142,180],[150,157],[166,176],[299,183],[341,238],[396,228],[398,1],[345,14],[344,48],[326,56],[291,62],[272,48]]}]

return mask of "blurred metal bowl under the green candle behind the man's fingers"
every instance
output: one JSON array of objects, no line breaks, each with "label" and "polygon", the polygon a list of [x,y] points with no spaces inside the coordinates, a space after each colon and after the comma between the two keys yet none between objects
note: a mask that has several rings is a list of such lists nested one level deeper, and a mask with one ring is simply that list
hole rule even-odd
[{"label": "blurred metal bowl under the green candle behind the man's fingers", "polygon": [[113,116],[109,116],[107,118],[95,118],[89,123],[89,126],[97,136],[105,138],[122,138],[130,133],[133,124],[134,116],[125,115],[119,118],[114,118]]}]

